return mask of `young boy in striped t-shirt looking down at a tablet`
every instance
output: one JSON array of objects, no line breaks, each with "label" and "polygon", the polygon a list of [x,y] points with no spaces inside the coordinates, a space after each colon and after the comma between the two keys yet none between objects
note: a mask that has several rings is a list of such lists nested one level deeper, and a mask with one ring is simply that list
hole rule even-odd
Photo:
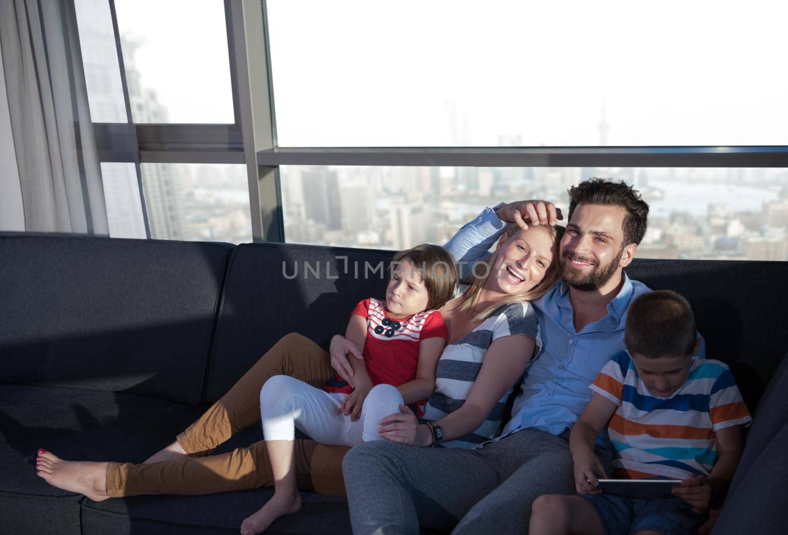
[{"label": "young boy in striped t-shirt looking down at a tablet", "polygon": [[[686,299],[656,291],[634,300],[624,329],[627,351],[597,376],[570,435],[578,496],[540,496],[530,533],[697,533],[701,515],[720,507],[742,456],[752,418],[723,362],[693,358],[701,344]],[[607,477],[593,453],[608,425],[622,479],[681,479],[675,498],[601,493]]]}]

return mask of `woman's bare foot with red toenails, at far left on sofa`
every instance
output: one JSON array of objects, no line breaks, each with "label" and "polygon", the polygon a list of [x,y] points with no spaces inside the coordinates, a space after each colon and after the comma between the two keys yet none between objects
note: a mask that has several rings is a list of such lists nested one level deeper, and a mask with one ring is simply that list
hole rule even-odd
[{"label": "woman's bare foot with red toenails, at far left on sofa", "polygon": [[109,463],[64,461],[49,451],[39,450],[36,472],[58,489],[84,494],[95,502],[106,500],[106,466]]}]

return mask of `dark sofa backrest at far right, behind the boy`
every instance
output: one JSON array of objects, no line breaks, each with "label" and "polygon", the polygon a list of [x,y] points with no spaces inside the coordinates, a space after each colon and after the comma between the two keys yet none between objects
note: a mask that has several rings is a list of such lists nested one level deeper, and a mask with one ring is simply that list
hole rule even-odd
[{"label": "dark sofa backrest at far right, behind the boy", "polygon": [[788,262],[636,259],[626,272],[686,297],[706,356],[730,366],[754,411],[788,351]]}]

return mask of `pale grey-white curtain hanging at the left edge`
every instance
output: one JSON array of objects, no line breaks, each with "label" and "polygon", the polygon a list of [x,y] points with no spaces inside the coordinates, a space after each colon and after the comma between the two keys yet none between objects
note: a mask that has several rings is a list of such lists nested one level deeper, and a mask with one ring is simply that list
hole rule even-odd
[{"label": "pale grey-white curtain hanging at the left edge", "polygon": [[0,50],[25,231],[109,235],[72,0],[0,0]]}]

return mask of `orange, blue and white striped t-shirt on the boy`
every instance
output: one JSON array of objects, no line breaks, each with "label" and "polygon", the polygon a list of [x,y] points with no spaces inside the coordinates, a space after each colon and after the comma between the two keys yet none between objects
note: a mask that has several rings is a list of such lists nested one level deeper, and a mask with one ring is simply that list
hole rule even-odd
[{"label": "orange, blue and white striped t-shirt on the boy", "polygon": [[714,433],[753,420],[733,373],[719,360],[695,359],[684,384],[661,398],[623,351],[589,388],[619,406],[608,433],[620,455],[613,461],[615,477],[624,479],[708,475],[717,460]]}]

